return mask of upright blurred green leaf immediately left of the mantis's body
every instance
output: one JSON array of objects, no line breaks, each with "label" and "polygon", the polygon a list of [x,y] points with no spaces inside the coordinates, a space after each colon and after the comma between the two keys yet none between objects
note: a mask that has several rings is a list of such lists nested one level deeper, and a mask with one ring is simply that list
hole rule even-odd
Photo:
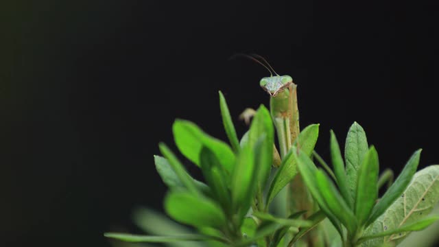
[{"label": "upright blurred green leaf immediately left of the mantis's body", "polygon": [[[257,142],[263,137],[263,141]],[[258,167],[257,180],[263,189],[270,176],[273,164],[274,127],[270,112],[265,106],[260,106],[253,117],[248,134],[248,145],[254,150],[255,163]]]}]

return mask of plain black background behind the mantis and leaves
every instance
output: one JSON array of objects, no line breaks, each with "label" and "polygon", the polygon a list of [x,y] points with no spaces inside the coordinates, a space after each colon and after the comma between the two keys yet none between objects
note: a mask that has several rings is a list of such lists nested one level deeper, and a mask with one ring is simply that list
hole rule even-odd
[{"label": "plain black background behind the mantis and leaves", "polygon": [[[268,104],[256,52],[298,84],[316,150],[358,121],[397,173],[423,148],[439,163],[438,5],[426,1],[7,1],[2,3],[1,246],[109,246],[137,231],[136,205],[161,209],[153,154],[190,119],[226,139]],[[342,144],[343,145],[343,144]],[[185,162],[189,171],[195,167]]]}]

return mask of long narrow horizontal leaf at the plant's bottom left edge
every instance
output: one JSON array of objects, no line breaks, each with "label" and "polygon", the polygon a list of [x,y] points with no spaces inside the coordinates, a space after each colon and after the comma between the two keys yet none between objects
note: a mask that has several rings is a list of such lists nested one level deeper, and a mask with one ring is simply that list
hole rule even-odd
[{"label": "long narrow horizontal leaf at the plant's bottom left edge", "polygon": [[104,233],[105,237],[113,239],[119,239],[125,242],[134,243],[167,243],[178,241],[205,241],[211,239],[209,236],[191,234],[191,235],[179,235],[179,236],[148,236],[148,235],[134,235],[128,233]]}]

